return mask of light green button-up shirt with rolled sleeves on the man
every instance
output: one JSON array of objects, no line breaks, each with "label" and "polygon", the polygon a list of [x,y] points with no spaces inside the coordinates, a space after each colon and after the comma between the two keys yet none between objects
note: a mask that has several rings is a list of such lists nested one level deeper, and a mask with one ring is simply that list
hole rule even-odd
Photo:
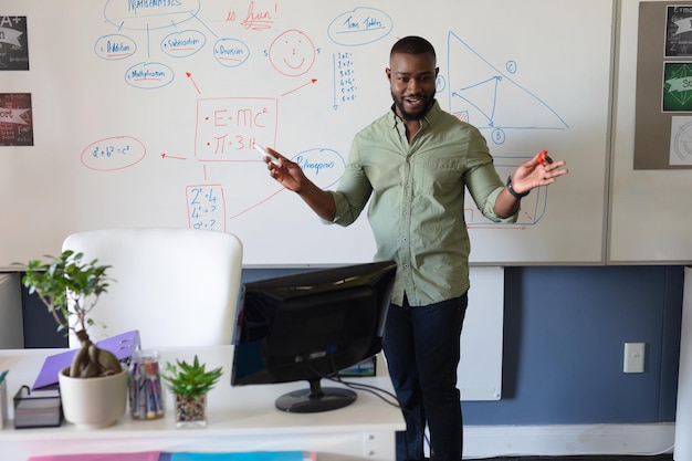
[{"label": "light green button-up shirt with rolled sleeves on the man", "polygon": [[504,188],[481,133],[443,112],[436,101],[409,144],[392,111],[359,132],[336,191],[334,222],[348,226],[366,203],[376,261],[398,264],[392,303],[411,306],[461,296],[469,289],[470,242],[464,186],[479,210],[500,222]]}]

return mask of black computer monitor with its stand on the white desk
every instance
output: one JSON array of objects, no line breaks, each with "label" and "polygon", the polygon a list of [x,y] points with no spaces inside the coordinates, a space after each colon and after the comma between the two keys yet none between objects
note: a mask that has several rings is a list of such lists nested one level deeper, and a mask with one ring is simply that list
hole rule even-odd
[{"label": "black computer monitor with its stand on the white desk", "polygon": [[231,385],[308,381],[275,400],[290,412],[352,404],[356,392],[321,380],[381,350],[396,269],[386,261],[244,283]]}]

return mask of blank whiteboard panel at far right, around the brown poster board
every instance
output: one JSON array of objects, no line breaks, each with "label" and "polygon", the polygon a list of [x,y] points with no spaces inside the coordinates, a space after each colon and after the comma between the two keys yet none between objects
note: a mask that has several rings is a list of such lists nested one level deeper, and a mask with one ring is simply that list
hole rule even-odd
[{"label": "blank whiteboard panel at far right, around the brown poster board", "polygon": [[[640,3],[643,2],[622,2],[620,13],[607,260],[609,263],[690,263],[692,171],[633,168]],[[660,2],[670,3],[673,2]],[[662,25],[665,18],[661,21]],[[661,150],[651,154],[668,156],[669,142],[670,138],[661,139]]]}]

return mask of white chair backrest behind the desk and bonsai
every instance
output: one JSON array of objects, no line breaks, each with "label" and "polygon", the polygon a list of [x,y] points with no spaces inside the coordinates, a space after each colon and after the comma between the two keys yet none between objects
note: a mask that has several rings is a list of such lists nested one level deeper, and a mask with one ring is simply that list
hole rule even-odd
[{"label": "white chair backrest behind the desk and bonsai", "polygon": [[[242,270],[242,244],[235,235],[104,229],[67,237],[63,250],[112,266],[108,292],[92,311],[92,340],[138,329],[143,348],[231,343]],[[78,345],[74,335],[70,345]]]}]

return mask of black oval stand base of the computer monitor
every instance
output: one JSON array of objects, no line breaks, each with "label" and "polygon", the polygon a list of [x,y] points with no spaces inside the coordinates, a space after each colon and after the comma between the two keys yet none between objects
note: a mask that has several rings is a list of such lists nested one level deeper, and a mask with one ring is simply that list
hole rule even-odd
[{"label": "black oval stand base of the computer monitor", "polygon": [[275,401],[276,408],[292,413],[315,413],[344,408],[356,401],[353,390],[340,387],[322,387],[319,379],[310,380],[310,389],[284,394]]}]

